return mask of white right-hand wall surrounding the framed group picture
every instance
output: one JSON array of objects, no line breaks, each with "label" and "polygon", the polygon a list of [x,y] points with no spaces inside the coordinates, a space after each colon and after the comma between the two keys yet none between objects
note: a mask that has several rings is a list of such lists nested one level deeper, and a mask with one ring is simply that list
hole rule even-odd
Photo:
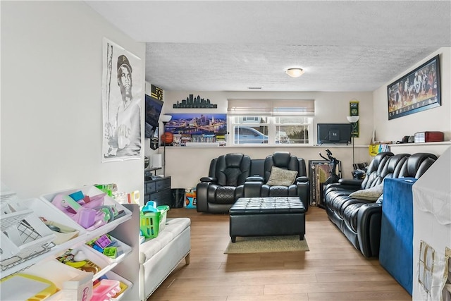
[{"label": "white right-hand wall surrounding the framed group picture", "polygon": [[[440,54],[440,78],[442,105],[419,113],[388,120],[387,85],[406,73],[414,70],[433,56]],[[403,136],[425,130],[438,130],[445,133],[445,140],[451,140],[451,48],[443,47],[419,61],[412,68],[388,80],[386,85],[373,92],[373,111],[376,127],[376,139],[379,141],[397,141]],[[407,152],[407,151],[406,151]],[[412,148],[409,148],[412,152]]]}]

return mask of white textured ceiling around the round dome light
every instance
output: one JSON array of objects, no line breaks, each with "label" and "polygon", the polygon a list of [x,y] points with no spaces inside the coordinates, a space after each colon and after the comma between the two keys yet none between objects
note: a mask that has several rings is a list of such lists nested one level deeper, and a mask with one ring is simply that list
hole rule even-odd
[{"label": "white textured ceiling around the round dome light", "polygon": [[147,43],[163,90],[373,91],[451,47],[449,0],[86,2]]}]

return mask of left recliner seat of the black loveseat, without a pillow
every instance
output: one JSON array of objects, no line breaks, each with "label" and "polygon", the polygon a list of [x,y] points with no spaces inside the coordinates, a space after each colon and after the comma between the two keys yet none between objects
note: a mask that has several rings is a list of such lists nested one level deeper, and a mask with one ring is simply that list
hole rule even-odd
[{"label": "left recliner seat of the black loveseat, without a pillow", "polygon": [[197,184],[197,211],[226,214],[244,195],[251,159],[245,154],[225,154],[211,160],[209,176]]}]

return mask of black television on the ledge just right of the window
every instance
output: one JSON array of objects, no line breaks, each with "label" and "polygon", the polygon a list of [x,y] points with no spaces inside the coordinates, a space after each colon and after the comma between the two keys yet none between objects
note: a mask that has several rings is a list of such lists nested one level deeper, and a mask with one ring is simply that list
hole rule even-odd
[{"label": "black television on the ledge just right of the window", "polygon": [[319,145],[348,145],[351,132],[351,123],[318,123],[316,137]]}]

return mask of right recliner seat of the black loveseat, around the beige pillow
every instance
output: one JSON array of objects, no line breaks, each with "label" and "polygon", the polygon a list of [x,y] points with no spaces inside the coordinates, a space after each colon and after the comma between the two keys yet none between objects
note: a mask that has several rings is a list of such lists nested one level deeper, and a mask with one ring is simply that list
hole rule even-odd
[{"label": "right recliner seat of the black loveseat, around the beige pillow", "polygon": [[[297,171],[295,182],[292,185],[268,185],[273,166]],[[262,176],[252,176],[245,183],[245,197],[299,197],[306,211],[309,209],[309,179],[305,161],[293,156],[290,152],[275,152],[266,156],[262,171],[257,171]]]}]

